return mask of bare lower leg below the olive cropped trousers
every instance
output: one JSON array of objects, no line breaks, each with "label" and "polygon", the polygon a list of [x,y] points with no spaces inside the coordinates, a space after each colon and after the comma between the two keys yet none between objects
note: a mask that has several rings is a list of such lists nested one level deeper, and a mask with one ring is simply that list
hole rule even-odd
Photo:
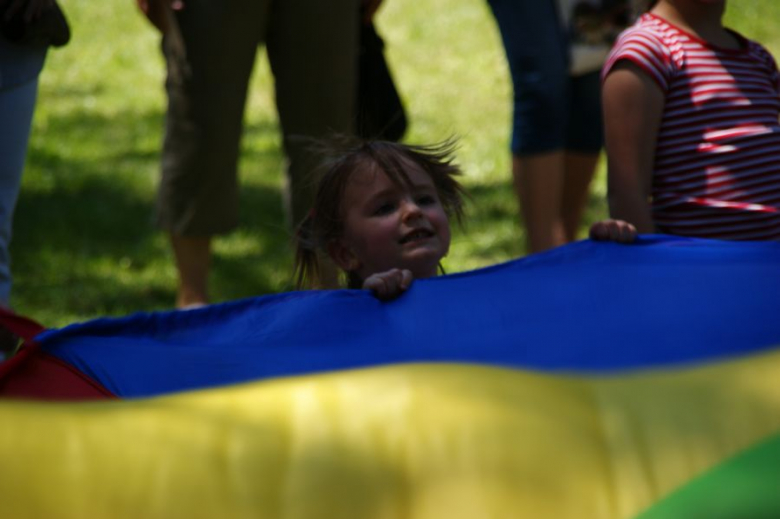
[{"label": "bare lower leg below the olive cropped trousers", "polygon": [[211,238],[170,235],[176,269],[179,272],[179,292],[176,306],[188,308],[206,305],[208,277],[211,267]]}]

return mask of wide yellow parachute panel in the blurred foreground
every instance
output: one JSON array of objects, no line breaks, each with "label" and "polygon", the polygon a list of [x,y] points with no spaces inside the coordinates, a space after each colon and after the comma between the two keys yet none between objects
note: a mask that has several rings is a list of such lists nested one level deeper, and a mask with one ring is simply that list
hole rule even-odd
[{"label": "wide yellow parachute panel in the blurred foreground", "polygon": [[780,431],[780,351],[565,377],[400,365],[0,403],[2,518],[629,519]]}]

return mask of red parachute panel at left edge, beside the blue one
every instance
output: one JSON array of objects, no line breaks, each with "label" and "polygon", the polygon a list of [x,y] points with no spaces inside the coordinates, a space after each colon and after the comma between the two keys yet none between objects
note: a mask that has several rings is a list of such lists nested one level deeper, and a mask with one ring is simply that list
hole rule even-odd
[{"label": "red parachute panel at left edge, beside the blue one", "polygon": [[45,328],[0,308],[0,326],[24,339],[19,352],[0,362],[0,398],[96,400],[115,395],[70,364],[41,351],[33,338]]}]

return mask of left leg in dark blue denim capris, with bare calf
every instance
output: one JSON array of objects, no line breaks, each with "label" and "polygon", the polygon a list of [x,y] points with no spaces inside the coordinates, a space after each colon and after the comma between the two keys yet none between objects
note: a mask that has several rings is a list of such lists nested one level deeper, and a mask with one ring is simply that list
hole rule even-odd
[{"label": "left leg in dark blue denim capris, with bare calf", "polygon": [[561,218],[568,64],[553,0],[490,0],[514,86],[512,174],[526,229],[539,252],[565,243]]}]

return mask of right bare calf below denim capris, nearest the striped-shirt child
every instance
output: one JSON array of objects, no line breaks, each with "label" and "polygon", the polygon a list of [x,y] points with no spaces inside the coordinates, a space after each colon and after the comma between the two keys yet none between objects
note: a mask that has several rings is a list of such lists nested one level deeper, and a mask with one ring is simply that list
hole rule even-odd
[{"label": "right bare calf below denim capris, nearest the striped-shirt child", "polygon": [[577,239],[582,213],[588,201],[590,182],[596,172],[598,153],[566,152],[564,164],[566,173],[561,193],[561,217],[566,241]]}]

